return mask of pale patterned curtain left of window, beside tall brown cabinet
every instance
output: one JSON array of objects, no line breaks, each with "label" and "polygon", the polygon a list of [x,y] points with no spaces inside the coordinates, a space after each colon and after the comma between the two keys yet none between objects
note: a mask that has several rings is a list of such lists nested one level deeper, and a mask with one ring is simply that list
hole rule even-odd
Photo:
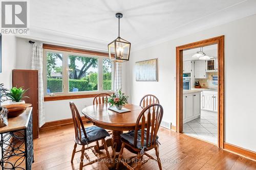
[{"label": "pale patterned curtain left of window, beside tall brown cabinet", "polygon": [[32,69],[38,70],[38,117],[39,128],[45,124],[44,83],[42,81],[42,43],[35,42],[32,50]]}]

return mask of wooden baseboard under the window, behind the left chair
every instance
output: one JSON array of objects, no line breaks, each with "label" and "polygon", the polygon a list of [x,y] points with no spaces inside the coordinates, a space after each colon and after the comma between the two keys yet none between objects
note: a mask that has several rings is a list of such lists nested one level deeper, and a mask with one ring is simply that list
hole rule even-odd
[{"label": "wooden baseboard under the window, behind the left chair", "polygon": [[[90,120],[85,118],[84,116],[81,117],[83,123],[87,123]],[[47,131],[47,130],[52,130],[58,127],[65,127],[65,126],[72,126],[73,125],[73,119],[72,118],[67,118],[67,119],[61,119],[61,120],[55,120],[52,122],[47,122],[45,125],[43,125],[41,128],[39,128],[39,131]]]}]

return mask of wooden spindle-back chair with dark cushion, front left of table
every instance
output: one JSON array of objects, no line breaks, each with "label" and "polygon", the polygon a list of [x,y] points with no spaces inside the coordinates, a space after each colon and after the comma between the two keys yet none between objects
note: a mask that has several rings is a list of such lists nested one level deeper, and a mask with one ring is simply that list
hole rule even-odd
[{"label": "wooden spindle-back chair with dark cushion, front left of table", "polygon": [[[71,109],[74,128],[75,128],[75,136],[74,136],[75,145],[74,145],[74,149],[73,149],[73,153],[72,153],[72,157],[71,157],[71,163],[73,163],[75,153],[77,153],[77,152],[81,152],[79,170],[81,170],[83,166],[93,164],[93,163],[98,162],[104,158],[110,159],[110,154],[109,154],[108,147],[107,147],[106,141],[105,141],[105,137],[110,136],[109,133],[106,132],[106,130],[99,128],[97,126],[84,128],[82,119],[81,119],[80,114],[76,108],[76,105],[73,102],[70,102],[69,104],[70,104],[70,109]],[[101,158],[98,156],[98,153],[93,149],[95,146],[97,146],[99,148],[99,140],[103,141],[104,148],[106,151],[106,156],[101,157]],[[96,145],[89,147],[89,144],[91,144],[92,142],[96,142]],[[76,151],[77,144],[82,145],[82,149],[79,151]],[[85,147],[85,145],[87,145],[87,147]],[[88,156],[88,154],[86,152],[84,152],[85,150],[89,150],[89,149],[92,150],[93,154],[97,157],[97,159],[95,159],[93,161],[90,160],[90,157]],[[86,159],[89,162],[83,165],[84,156],[86,157]]]}]

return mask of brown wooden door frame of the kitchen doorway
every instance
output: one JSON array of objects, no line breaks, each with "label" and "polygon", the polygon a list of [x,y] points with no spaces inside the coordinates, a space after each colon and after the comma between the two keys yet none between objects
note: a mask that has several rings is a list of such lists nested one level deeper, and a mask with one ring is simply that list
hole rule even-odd
[{"label": "brown wooden door frame of the kitchen doorway", "polygon": [[[183,70],[184,69],[188,69],[188,66],[186,64],[184,64],[183,67],[183,52],[184,51],[188,51],[194,48],[200,48],[200,47],[206,47],[206,46],[216,46],[217,47],[217,56],[214,59],[216,61],[216,67],[218,68],[218,70],[215,70],[216,75],[214,79],[217,79],[218,82],[216,82],[216,94],[212,94],[212,96],[215,96],[215,110],[217,112],[216,117],[217,117],[217,145],[220,148],[223,148],[224,145],[224,36],[219,36],[219,37],[215,37],[215,38],[210,38],[210,39],[206,39],[206,40],[202,40],[202,41],[198,41],[198,42],[193,42],[193,43],[189,43],[189,44],[185,44],[185,45],[181,45],[181,46],[177,46],[176,47],[176,77],[177,77],[177,93],[176,93],[176,100],[177,100],[177,122],[176,122],[176,130],[179,133],[183,132],[183,116],[184,116],[184,105],[185,101],[183,99]],[[200,64],[201,62],[199,61],[198,64]],[[203,63],[203,62],[202,62]],[[204,65],[203,65],[204,66]],[[207,64],[205,65],[207,67]],[[210,68],[210,62],[209,62],[209,69]],[[214,67],[214,69],[216,69],[216,67]],[[189,72],[189,71],[188,71]],[[195,72],[194,72],[195,73]],[[191,72],[191,74],[193,74]],[[195,78],[194,75],[185,75],[186,80],[185,83],[187,83],[187,81],[191,81],[188,77],[190,76],[190,78]],[[203,75],[199,75],[199,76],[203,76]],[[207,76],[207,75],[205,75]],[[211,75],[212,76],[212,75]],[[199,77],[200,78],[200,77]],[[187,87],[186,87],[187,88]],[[189,91],[191,92],[191,91]],[[185,92],[184,92],[185,93]],[[199,95],[199,96],[198,96]],[[195,99],[199,99],[200,100],[200,93],[199,94],[194,94],[193,95],[195,97]],[[197,98],[198,96],[198,98]],[[190,96],[189,96],[190,98]],[[192,97],[193,98],[193,97]],[[191,100],[194,100],[192,99]],[[201,102],[200,102],[201,103]],[[189,104],[190,108],[194,108],[195,106]],[[198,108],[198,107],[196,107]],[[194,109],[195,110],[195,109]],[[193,118],[200,118],[200,114],[196,113],[189,113],[191,115],[194,115],[194,117],[191,117],[190,119]],[[184,116],[184,118],[186,118],[186,116]],[[189,119],[187,119],[189,120]],[[197,119],[200,121],[200,119]],[[209,126],[209,125],[207,125]]]}]

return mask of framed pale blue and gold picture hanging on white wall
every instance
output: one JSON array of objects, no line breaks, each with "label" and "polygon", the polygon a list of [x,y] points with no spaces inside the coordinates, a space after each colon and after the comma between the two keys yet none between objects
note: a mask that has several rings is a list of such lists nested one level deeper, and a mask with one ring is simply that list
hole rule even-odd
[{"label": "framed pale blue and gold picture hanging on white wall", "polygon": [[157,59],[139,61],[136,66],[136,81],[158,81]]}]

